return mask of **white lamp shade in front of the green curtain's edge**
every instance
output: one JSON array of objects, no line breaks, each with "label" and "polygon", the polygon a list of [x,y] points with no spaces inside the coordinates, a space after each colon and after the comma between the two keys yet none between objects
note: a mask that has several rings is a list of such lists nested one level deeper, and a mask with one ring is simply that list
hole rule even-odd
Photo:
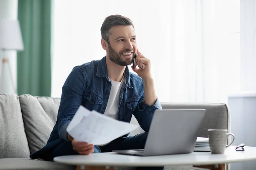
[{"label": "white lamp shade in front of the green curtain's edge", "polygon": [[18,20],[0,19],[0,49],[17,51],[24,49]]}]

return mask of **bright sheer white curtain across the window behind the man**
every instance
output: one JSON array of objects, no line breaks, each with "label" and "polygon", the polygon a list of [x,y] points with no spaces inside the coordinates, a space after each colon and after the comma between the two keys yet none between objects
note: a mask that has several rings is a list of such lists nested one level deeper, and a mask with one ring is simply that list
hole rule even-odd
[{"label": "bright sheer white curtain across the window behind the man", "polygon": [[160,102],[227,102],[239,89],[239,0],[55,0],[53,13],[53,97],[74,66],[105,56],[111,14],[134,22]]}]

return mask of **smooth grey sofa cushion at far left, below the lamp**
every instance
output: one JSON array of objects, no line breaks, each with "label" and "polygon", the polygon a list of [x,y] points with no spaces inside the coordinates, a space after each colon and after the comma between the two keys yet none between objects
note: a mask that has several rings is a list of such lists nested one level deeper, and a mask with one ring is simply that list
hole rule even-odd
[{"label": "smooth grey sofa cushion at far left, below the lamp", "polygon": [[16,94],[0,94],[0,158],[29,158],[20,102]]}]

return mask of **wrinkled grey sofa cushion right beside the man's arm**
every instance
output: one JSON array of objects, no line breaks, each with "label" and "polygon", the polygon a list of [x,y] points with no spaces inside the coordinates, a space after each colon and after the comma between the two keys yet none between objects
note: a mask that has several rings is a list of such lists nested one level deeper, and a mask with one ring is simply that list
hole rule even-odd
[{"label": "wrinkled grey sofa cushion right beside the man's arm", "polygon": [[59,98],[19,96],[30,153],[45,146],[57,120]]}]

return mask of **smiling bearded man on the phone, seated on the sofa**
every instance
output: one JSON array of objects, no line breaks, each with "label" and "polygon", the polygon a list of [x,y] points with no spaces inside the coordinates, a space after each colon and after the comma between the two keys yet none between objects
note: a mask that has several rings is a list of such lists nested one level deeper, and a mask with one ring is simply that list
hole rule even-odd
[{"label": "smiling bearded man on the phone, seated on the sofa", "polygon": [[[57,122],[47,145],[33,153],[32,159],[52,161],[55,156],[144,148],[154,111],[162,109],[154,90],[150,60],[137,49],[129,18],[108,16],[101,34],[106,56],[73,68],[63,85]],[[127,66],[136,53],[137,67],[132,69],[138,75],[131,74]],[[78,142],[66,129],[80,105],[124,122],[130,122],[134,115],[145,133],[122,136],[104,146]]]}]

